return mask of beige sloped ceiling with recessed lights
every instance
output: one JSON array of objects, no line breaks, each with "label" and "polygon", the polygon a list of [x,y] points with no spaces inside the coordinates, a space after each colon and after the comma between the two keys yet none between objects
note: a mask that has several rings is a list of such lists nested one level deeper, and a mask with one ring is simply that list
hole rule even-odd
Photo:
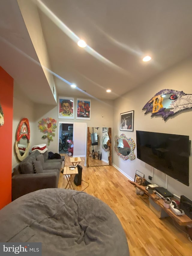
[{"label": "beige sloped ceiling with recessed lights", "polygon": [[[34,102],[45,101],[35,96],[38,89],[55,104],[50,83],[59,95],[113,100],[192,54],[191,0],[3,0],[0,5],[0,65]],[[79,39],[85,48],[77,46]],[[42,42],[45,51],[38,47]],[[142,61],[146,55],[150,62]]]}]

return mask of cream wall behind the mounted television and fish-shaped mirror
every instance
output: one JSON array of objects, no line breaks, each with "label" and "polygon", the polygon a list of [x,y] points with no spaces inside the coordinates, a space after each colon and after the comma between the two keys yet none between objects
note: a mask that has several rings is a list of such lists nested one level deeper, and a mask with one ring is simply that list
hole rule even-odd
[{"label": "cream wall behind the mounted television and fish-shaped mirror", "polygon": [[[189,139],[192,140],[192,109],[184,110],[175,114],[173,117],[169,117],[166,121],[161,116],[151,117],[151,113],[144,114],[145,110],[142,110],[144,105],[159,91],[163,89],[173,89],[183,91],[187,94],[192,94],[192,59],[174,66],[170,70],[167,70],[160,76],[150,80],[148,83],[141,85],[139,88],[123,95],[118,98],[114,104],[114,118],[113,118],[113,142],[114,136],[124,133],[128,138],[133,138],[136,143],[136,130],[141,131],[153,131],[170,134],[189,135]],[[120,113],[134,110],[134,131],[120,131]],[[135,160],[123,160],[113,150],[113,164],[128,178],[134,180],[136,170],[145,174],[145,178],[148,180],[148,176],[152,175],[152,167],[145,164],[143,161],[137,159],[137,150],[135,148],[134,153],[136,155]],[[190,186],[187,187],[181,182],[168,177],[167,189],[178,195],[184,194],[186,197],[192,200],[191,188],[192,188],[192,157],[190,156],[189,172]],[[149,181],[149,180],[148,180]],[[166,175],[158,170],[154,171],[152,183],[164,186],[166,183]]]}]

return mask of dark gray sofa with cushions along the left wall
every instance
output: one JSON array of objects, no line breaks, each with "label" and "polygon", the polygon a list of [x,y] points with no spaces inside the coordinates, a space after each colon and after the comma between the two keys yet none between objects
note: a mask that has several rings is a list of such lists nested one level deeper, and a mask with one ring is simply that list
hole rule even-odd
[{"label": "dark gray sofa with cushions along the left wall", "polygon": [[33,151],[13,169],[12,200],[39,189],[57,188],[62,161],[48,159],[47,151]]}]

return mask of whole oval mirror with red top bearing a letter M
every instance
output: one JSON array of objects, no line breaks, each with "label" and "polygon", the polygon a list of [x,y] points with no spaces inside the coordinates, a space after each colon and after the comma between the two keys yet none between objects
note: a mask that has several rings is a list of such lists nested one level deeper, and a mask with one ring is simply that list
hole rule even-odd
[{"label": "whole oval mirror with red top bearing a letter M", "polygon": [[30,146],[30,127],[29,120],[23,118],[17,128],[16,141],[15,141],[15,152],[17,158],[22,161],[28,156]]}]

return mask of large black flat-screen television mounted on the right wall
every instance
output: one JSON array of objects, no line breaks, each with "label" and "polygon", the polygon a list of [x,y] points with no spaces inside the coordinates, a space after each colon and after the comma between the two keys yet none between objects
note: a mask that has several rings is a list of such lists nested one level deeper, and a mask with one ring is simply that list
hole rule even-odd
[{"label": "large black flat-screen television mounted on the right wall", "polygon": [[137,158],[189,186],[189,136],[136,131]]}]

